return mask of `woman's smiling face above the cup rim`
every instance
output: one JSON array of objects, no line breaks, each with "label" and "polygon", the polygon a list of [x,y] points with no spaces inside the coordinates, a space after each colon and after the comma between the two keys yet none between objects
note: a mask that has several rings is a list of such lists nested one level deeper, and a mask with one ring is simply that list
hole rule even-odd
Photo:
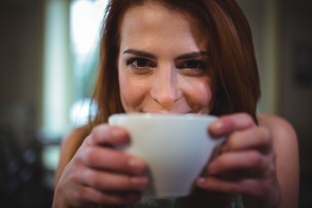
[{"label": "woman's smiling face above the cup rim", "polygon": [[215,93],[208,31],[157,4],[132,7],[121,24],[118,76],[124,110],[208,114]]}]

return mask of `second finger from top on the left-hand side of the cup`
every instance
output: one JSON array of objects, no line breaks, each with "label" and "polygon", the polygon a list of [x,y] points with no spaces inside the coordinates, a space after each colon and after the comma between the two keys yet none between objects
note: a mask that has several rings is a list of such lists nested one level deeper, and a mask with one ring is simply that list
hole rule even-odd
[{"label": "second finger from top on the left-hand side of the cup", "polygon": [[86,166],[101,170],[139,175],[143,174],[147,168],[144,161],[139,158],[99,146],[86,148],[80,157]]}]

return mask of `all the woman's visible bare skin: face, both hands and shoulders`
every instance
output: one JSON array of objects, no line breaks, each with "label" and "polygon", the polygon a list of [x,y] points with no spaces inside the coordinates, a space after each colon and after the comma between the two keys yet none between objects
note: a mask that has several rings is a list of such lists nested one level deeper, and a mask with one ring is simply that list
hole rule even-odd
[{"label": "all the woman's visible bare skin: face, both hands and shoulders", "polygon": [[[117,60],[126,112],[209,114],[214,104],[214,67],[209,37],[202,28],[192,17],[160,5],[128,10]],[[221,116],[207,127],[211,134],[228,139],[220,155],[207,164],[210,175],[199,178],[196,185],[239,193],[245,208],[296,208],[295,131],[275,116],[261,115],[259,124],[239,113]],[[101,124],[86,138],[81,135],[74,131],[62,145],[53,208],[137,202],[149,183],[146,164],[109,147],[129,142],[127,131]]]}]

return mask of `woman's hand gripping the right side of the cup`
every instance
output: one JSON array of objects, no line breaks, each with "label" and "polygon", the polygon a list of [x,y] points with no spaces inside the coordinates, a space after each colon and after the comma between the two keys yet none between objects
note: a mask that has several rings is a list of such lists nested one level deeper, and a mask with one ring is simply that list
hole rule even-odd
[{"label": "woman's hand gripping the right side of the cup", "polygon": [[228,138],[220,155],[208,164],[209,176],[198,179],[197,186],[241,194],[245,208],[276,208],[281,199],[270,131],[239,113],[220,117],[209,132]]}]

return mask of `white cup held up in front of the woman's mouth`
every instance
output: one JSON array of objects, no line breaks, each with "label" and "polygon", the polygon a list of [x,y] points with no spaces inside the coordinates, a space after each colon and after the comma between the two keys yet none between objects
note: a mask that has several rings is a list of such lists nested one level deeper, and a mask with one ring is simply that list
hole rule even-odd
[{"label": "white cup held up in front of the woman's mouth", "polygon": [[212,139],[208,126],[215,116],[196,114],[115,114],[110,125],[124,127],[130,144],[119,149],[143,159],[150,186],[144,195],[183,197],[191,193],[214,149],[225,138]]}]

